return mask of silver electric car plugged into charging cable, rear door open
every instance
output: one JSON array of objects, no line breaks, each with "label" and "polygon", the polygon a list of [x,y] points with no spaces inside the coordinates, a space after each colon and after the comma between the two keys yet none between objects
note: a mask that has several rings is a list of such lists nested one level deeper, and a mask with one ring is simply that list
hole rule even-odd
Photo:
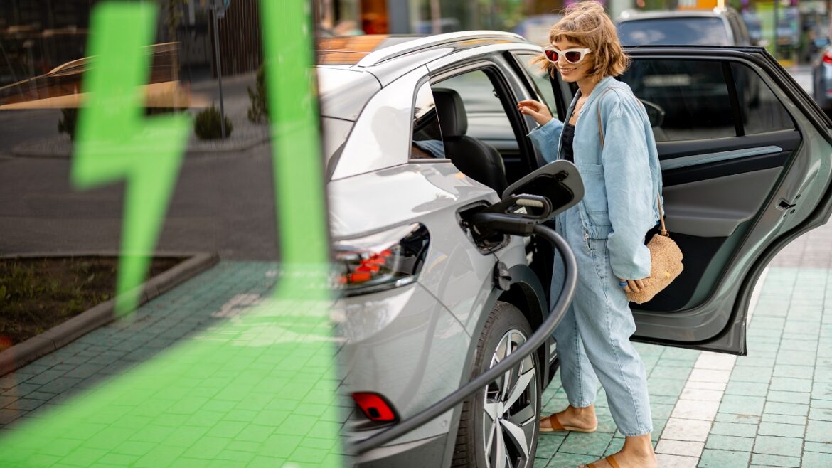
[{"label": "silver electric car plugged into charging cable, rear door open", "polygon": [[[529,340],[559,297],[557,287],[548,297],[548,242],[482,236],[472,214],[545,165],[516,103],[545,102],[562,119],[576,87],[541,72],[541,48],[507,32],[328,37],[319,48],[339,391],[352,398],[343,430],[348,450],[364,441],[352,462],[532,466],[551,342],[463,404],[418,418]],[[627,52],[619,79],[677,97],[645,100],[661,134],[667,227],[685,254],[681,276],[634,305],[633,340],[744,355],[758,276],[830,217],[832,121],[761,48]],[[691,69],[718,80],[718,122],[686,97]],[[757,112],[744,111],[736,76],[755,81]],[[368,442],[396,427],[409,431]]]}]

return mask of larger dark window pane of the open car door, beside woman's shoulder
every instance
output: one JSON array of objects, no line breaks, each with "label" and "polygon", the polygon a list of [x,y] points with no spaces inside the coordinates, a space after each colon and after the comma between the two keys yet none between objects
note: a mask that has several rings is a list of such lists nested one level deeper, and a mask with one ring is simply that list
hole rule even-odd
[{"label": "larger dark window pane of the open car door, beside woman's shoulder", "polygon": [[734,137],[734,113],[721,62],[635,60],[621,80],[648,108],[664,112],[656,141]]}]

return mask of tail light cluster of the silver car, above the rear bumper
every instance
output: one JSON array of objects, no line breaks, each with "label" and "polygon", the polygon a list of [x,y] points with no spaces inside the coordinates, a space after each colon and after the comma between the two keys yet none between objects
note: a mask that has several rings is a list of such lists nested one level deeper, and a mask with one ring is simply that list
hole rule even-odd
[{"label": "tail light cluster of the silver car, above the rear bumper", "polygon": [[335,241],[339,286],[356,296],[408,285],[422,270],[429,241],[428,229],[418,223]]}]

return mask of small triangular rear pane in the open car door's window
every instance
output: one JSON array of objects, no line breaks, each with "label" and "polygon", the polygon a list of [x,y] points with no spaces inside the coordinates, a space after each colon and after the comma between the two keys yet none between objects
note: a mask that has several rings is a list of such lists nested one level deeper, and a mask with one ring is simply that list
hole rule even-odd
[{"label": "small triangular rear pane in the open car door's window", "polygon": [[745,135],[795,128],[789,112],[754,70],[731,63],[742,111]]}]

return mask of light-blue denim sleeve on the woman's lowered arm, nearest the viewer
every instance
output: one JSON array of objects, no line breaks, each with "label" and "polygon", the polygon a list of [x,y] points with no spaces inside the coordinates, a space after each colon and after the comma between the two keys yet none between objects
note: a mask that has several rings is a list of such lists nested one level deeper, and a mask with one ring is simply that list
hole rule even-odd
[{"label": "light-blue denim sleeve on the woman's lowered arm, nearest the viewer", "polygon": [[[602,163],[612,233],[607,236],[612,271],[619,278],[650,276],[644,236],[653,219],[652,177],[641,109],[619,97],[607,113]],[[612,106],[611,106],[612,107]]]}]

